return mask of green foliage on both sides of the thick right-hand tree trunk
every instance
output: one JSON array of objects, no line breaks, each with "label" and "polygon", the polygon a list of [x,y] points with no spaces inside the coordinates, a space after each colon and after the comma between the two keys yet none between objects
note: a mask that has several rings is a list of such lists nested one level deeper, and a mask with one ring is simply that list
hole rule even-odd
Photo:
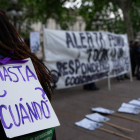
[{"label": "green foliage on both sides of the thick right-hand tree trunk", "polygon": [[[130,17],[135,35],[140,31],[139,7],[139,0],[131,0]],[[96,28],[92,26],[93,20],[96,19],[96,12],[100,13],[100,17],[103,20],[104,26],[101,27],[102,30],[105,30],[104,27],[106,26],[106,30],[110,32],[126,33],[119,7],[115,3],[112,3],[112,0],[82,0],[79,14],[85,19],[86,30],[96,30]],[[114,17],[111,18],[111,15],[114,15]]]}]

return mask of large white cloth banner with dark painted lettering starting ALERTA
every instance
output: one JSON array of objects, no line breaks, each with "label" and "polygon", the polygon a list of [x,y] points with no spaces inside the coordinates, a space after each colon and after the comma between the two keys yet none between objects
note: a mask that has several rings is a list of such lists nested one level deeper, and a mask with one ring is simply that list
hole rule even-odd
[{"label": "large white cloth banner with dark painted lettering starting ALERTA", "polygon": [[128,40],[122,34],[44,29],[44,50],[57,89],[130,71]]}]

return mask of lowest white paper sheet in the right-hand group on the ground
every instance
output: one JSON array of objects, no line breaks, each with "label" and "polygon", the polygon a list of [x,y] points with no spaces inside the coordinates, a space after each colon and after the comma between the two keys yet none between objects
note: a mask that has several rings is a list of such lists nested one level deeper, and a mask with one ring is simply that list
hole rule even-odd
[{"label": "lowest white paper sheet in the right-hand group on the ground", "polygon": [[139,114],[139,110],[130,107],[120,107],[118,112],[129,113],[129,114]]}]

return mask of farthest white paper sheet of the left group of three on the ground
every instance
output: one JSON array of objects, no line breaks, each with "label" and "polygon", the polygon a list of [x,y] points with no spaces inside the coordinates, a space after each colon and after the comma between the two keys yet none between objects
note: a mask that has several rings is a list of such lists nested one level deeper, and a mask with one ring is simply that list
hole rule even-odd
[{"label": "farthest white paper sheet of the left group of three on the ground", "polygon": [[103,107],[92,108],[92,111],[99,112],[99,113],[105,113],[105,114],[115,113],[114,110],[109,110],[109,109],[106,109],[106,108],[103,108]]}]

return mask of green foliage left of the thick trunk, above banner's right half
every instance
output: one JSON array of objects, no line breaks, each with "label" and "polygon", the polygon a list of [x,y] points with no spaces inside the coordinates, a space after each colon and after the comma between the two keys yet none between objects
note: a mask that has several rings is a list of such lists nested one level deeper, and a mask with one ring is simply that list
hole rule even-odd
[{"label": "green foliage left of the thick trunk, above banner's right half", "polygon": [[[86,11],[86,12],[85,12]],[[85,19],[86,30],[97,30],[93,27],[92,22],[98,20],[96,12],[100,13],[99,19],[103,21],[101,30],[107,30],[115,33],[124,33],[124,23],[118,11],[118,7],[108,1],[98,0],[82,0],[82,5],[79,9],[79,14]],[[111,18],[111,14],[115,17]]]}]

